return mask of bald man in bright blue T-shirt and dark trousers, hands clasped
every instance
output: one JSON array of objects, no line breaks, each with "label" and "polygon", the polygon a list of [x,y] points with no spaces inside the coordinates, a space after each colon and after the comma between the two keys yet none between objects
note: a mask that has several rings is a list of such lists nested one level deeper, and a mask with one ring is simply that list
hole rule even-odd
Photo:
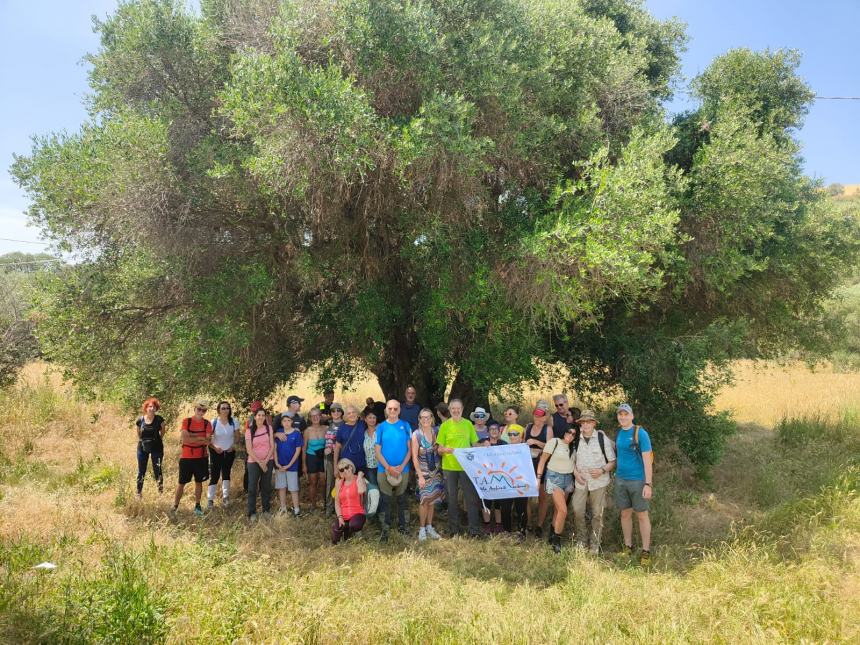
[{"label": "bald man in bright blue T-shirt and dark trousers, hands clasped", "polygon": [[385,404],[385,421],[376,428],[376,461],[378,462],[379,494],[383,499],[385,519],[380,540],[388,541],[391,529],[392,505],[397,504],[397,526],[406,533],[406,503],[403,494],[409,483],[409,441],[412,428],[400,418],[400,401]]}]

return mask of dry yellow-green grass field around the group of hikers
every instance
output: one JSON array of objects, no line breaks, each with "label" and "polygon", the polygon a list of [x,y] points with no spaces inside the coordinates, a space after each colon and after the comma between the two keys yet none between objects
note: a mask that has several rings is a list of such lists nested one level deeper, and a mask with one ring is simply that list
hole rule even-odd
[{"label": "dry yellow-green grass field around the group of hikers", "polygon": [[0,642],[857,642],[860,423],[816,416],[844,417],[857,378],[738,375],[720,405],[749,425],[712,481],[658,461],[643,568],[612,509],[599,558],[375,528],[333,547],[318,514],[248,524],[235,483],[229,508],[196,518],[186,497],[174,518],[151,479],[134,499],[132,417],[30,366],[0,391]]}]

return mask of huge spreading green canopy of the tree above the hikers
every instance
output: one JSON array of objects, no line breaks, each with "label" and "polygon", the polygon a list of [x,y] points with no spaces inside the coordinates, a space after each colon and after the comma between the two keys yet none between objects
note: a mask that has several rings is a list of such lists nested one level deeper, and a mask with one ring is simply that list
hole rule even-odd
[{"label": "huge spreading green canopy of the tree above the hikers", "polygon": [[802,173],[794,52],[721,56],[669,122],[683,29],[632,0],[136,0],[96,29],[90,120],[12,171],[84,258],[39,305],[82,386],[369,369],[483,402],[541,358],[707,464],[725,361],[827,345],[857,230]]}]

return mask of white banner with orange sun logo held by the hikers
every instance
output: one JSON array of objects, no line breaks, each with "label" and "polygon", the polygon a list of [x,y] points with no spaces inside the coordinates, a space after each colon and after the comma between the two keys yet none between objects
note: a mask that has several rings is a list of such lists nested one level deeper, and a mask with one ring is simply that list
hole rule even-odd
[{"label": "white banner with orange sun logo held by the hikers", "polygon": [[481,499],[537,497],[537,477],[529,447],[523,443],[488,448],[457,448],[454,456]]}]

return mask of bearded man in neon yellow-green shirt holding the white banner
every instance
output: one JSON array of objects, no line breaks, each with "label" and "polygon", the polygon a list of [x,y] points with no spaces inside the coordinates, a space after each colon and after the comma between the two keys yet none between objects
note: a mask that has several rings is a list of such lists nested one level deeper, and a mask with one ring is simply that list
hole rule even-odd
[{"label": "bearded man in neon yellow-green shirt holding the white banner", "polygon": [[454,456],[456,448],[471,448],[477,445],[478,433],[475,432],[472,422],[463,418],[463,402],[460,399],[451,399],[448,402],[448,410],[451,418],[439,426],[439,434],[436,437],[437,450],[442,456],[442,475],[445,478],[445,493],[448,498],[448,529],[452,536],[460,533],[460,509],[457,500],[462,489],[469,518],[469,535],[484,537],[478,491]]}]

